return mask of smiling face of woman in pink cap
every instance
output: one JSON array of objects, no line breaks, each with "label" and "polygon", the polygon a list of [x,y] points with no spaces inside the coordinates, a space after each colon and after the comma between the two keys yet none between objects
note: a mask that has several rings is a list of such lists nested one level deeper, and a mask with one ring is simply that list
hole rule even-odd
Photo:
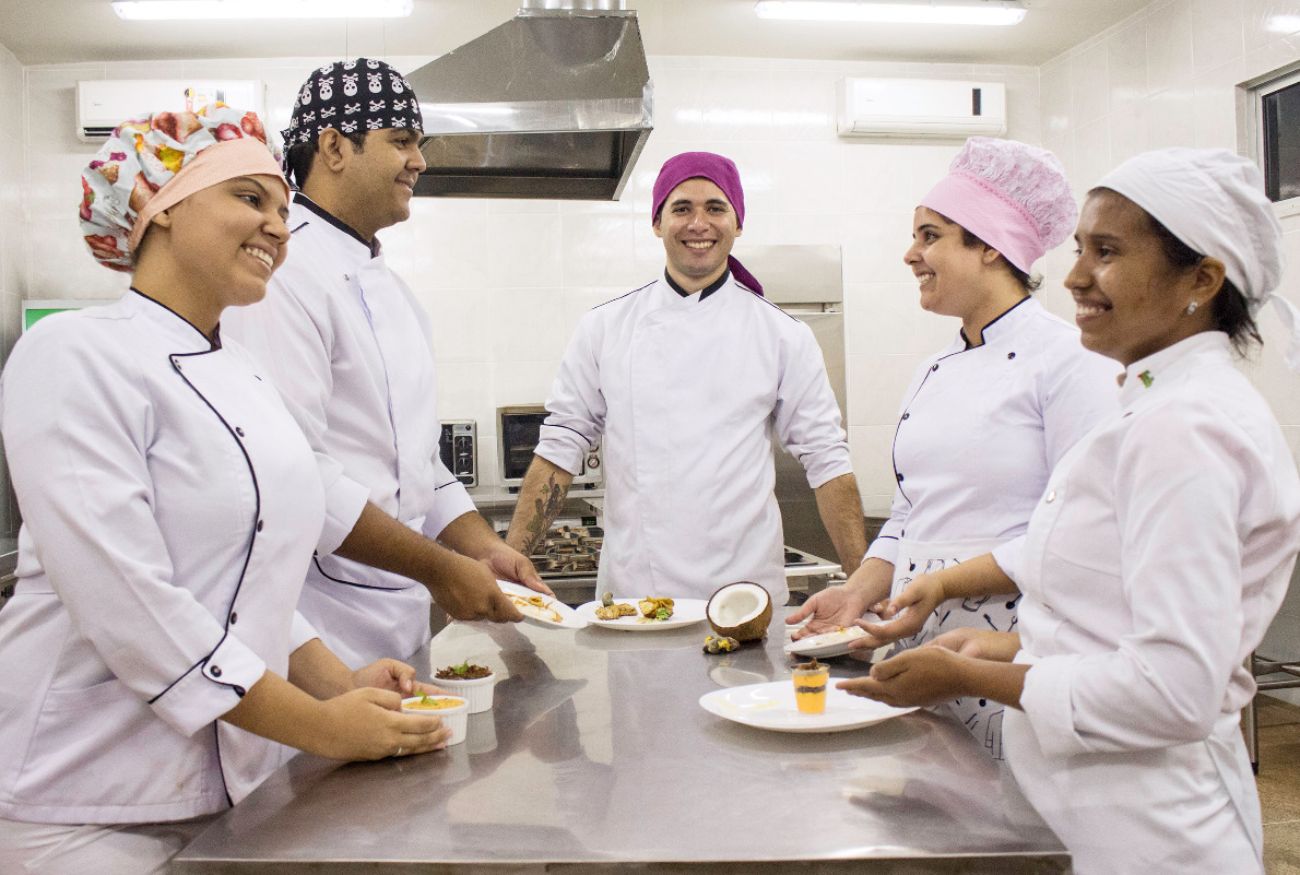
[{"label": "smiling face of woman in pink cap", "polygon": [[902,260],[920,283],[920,307],[940,316],[970,317],[984,304],[982,282],[993,259],[983,246],[966,246],[962,226],[928,207],[916,207],[911,246]]}]

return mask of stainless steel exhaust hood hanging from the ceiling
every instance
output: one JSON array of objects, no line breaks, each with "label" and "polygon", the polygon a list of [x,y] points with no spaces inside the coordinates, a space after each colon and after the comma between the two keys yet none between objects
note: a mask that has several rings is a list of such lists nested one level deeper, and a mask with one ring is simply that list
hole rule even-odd
[{"label": "stainless steel exhaust hood hanging from the ceiling", "polygon": [[407,81],[424,111],[429,165],[417,195],[616,200],[653,129],[630,10],[525,0],[515,18]]}]

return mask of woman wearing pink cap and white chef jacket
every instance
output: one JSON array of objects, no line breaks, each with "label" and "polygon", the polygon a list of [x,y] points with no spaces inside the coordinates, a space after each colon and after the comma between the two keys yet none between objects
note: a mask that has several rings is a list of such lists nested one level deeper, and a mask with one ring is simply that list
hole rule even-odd
[{"label": "woman wearing pink cap and white chef jacket", "polygon": [[[1015,586],[989,586],[984,575],[972,585],[966,577],[991,560],[965,562],[989,551],[1014,562],[1053,465],[1115,406],[1113,363],[1083,350],[1079,332],[1031,296],[1034,263],[1076,216],[1054,155],[984,138],[966,142],[916,207],[904,261],[920,306],[962,326],[904,395],[889,520],[848,584],[789,618],[811,618],[796,637],[857,623],[868,632],[857,647],[900,641],[901,650],[959,627],[1014,628]],[[893,619],[862,620],[872,606]],[[1002,706],[963,698],[950,707],[1001,759]]]}]

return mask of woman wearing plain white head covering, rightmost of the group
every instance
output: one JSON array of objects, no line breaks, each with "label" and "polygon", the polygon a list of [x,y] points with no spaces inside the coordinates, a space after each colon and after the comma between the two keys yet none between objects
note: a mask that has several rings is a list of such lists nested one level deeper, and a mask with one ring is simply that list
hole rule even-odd
[{"label": "woman wearing plain white head covering, rightmost of the group", "polygon": [[1052,472],[1005,569],[1019,636],[961,631],[841,686],[1013,706],[1011,771],[1079,875],[1262,872],[1243,663],[1300,549],[1300,477],[1232,359],[1269,300],[1297,326],[1282,230],[1251,161],[1179,148],[1104,177],[1075,239],[1066,286],[1123,408]]}]

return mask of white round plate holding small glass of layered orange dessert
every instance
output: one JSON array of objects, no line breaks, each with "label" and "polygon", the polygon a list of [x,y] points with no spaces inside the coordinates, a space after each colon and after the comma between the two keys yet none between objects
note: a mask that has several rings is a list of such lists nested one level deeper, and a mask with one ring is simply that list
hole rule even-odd
[{"label": "white round plate holding small glass of layered orange dessert", "polygon": [[832,677],[827,684],[824,714],[803,714],[794,706],[794,683],[789,677],[716,689],[701,696],[699,706],[720,718],[776,732],[845,732],[916,710],[849,696],[833,686],[837,680]]}]

